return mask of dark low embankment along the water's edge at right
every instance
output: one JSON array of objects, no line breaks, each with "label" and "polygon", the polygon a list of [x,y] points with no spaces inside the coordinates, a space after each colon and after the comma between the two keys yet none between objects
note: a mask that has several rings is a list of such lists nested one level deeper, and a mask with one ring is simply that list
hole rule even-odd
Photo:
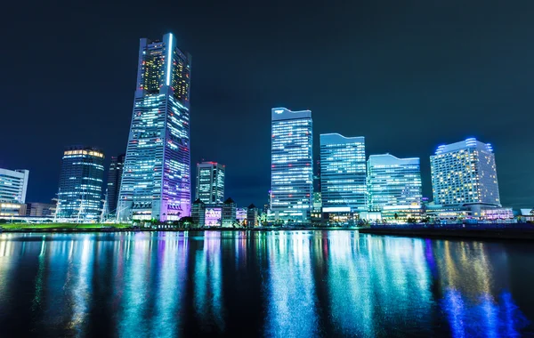
[{"label": "dark low embankment along the water's edge at right", "polygon": [[514,241],[534,241],[534,231],[525,229],[359,229],[362,234],[425,237],[433,239],[500,239]]}]

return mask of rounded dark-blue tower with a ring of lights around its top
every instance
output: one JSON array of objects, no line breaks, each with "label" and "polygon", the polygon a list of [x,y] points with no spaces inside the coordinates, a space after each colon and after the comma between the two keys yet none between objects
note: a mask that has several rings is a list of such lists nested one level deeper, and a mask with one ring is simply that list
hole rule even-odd
[{"label": "rounded dark-blue tower with a ring of lights around its top", "polygon": [[93,147],[73,146],[63,152],[56,216],[95,221],[101,217],[104,154]]}]

